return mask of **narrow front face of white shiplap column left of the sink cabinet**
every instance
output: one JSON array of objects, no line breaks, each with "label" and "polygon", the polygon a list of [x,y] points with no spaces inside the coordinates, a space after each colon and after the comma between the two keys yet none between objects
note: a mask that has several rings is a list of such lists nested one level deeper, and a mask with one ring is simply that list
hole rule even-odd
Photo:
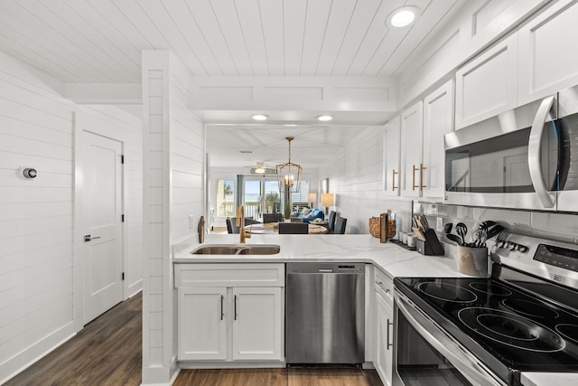
[{"label": "narrow front face of white shiplap column left of the sink cabinet", "polygon": [[143,384],[170,384],[175,371],[171,281],[171,54],[144,51]]}]

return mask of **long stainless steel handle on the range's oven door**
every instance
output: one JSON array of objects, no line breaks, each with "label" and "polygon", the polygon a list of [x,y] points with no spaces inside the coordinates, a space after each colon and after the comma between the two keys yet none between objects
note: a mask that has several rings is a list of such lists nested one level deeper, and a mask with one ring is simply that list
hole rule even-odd
[{"label": "long stainless steel handle on the range's oven door", "polygon": [[[452,362],[456,369],[474,385],[506,385],[490,372],[486,366],[480,363],[478,358],[438,327],[429,316],[425,315],[405,295],[395,291],[394,297],[397,308],[406,316],[407,321],[415,328],[417,333]],[[425,326],[426,324],[427,326]]]}]

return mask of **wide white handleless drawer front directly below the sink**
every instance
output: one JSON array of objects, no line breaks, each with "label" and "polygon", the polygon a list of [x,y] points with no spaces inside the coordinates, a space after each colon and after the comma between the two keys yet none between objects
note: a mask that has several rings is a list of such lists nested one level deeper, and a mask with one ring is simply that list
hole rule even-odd
[{"label": "wide white handleless drawer front directly below the sink", "polygon": [[175,287],[284,287],[284,264],[175,264]]}]

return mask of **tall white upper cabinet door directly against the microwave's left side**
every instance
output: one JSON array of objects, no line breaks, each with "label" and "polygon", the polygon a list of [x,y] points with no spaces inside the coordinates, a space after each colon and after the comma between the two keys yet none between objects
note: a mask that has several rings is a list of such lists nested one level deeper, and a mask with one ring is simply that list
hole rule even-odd
[{"label": "tall white upper cabinet door directly against the microwave's left side", "polygon": [[443,136],[453,129],[453,80],[424,99],[424,154],[420,179],[422,196],[443,198],[445,144]]}]

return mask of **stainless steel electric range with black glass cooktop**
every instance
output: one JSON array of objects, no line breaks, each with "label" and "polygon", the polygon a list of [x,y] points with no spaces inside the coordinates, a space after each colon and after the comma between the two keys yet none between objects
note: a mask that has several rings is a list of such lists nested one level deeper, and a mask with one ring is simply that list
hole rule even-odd
[{"label": "stainless steel electric range with black glass cooktop", "polygon": [[394,384],[578,383],[578,247],[510,234],[491,258],[490,278],[395,279]]}]

